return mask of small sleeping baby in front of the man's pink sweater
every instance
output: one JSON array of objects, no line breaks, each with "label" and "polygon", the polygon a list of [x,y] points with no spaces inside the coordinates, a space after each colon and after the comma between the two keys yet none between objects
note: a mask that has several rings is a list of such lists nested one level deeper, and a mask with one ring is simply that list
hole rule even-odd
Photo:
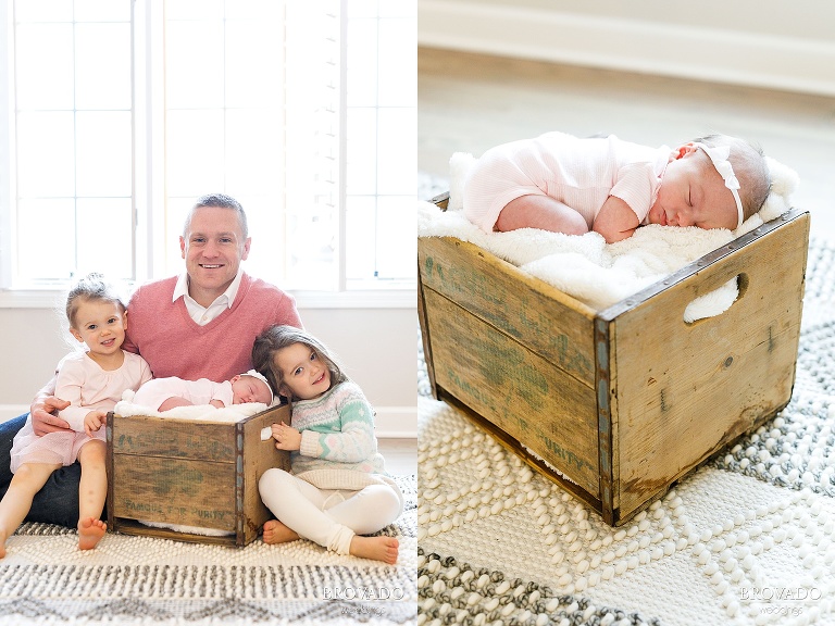
[{"label": "small sleeping baby in front of the man's pink sweater", "polygon": [[273,390],[266,378],[254,370],[215,383],[208,378],[184,380],[171,376],[148,380],[134,395],[134,404],[150,406],[154,411],[169,411],[175,406],[211,404],[217,409],[246,402],[273,403]]}]

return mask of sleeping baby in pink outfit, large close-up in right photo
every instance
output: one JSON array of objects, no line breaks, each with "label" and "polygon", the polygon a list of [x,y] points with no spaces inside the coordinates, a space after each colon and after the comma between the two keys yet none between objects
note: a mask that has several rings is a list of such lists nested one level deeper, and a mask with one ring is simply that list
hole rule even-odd
[{"label": "sleeping baby in pink outfit, large close-up in right photo", "polygon": [[594,230],[611,243],[646,224],[735,229],[769,188],[762,152],[734,137],[670,149],[548,133],[488,150],[464,183],[464,214],[488,233]]}]

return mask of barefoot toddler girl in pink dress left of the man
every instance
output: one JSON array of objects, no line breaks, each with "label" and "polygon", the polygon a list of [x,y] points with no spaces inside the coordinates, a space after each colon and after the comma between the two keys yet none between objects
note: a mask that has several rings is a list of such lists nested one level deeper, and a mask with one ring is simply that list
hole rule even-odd
[{"label": "barefoot toddler girl in pink dress left of the man", "polygon": [[55,395],[70,402],[60,416],[74,433],[39,437],[29,418],[15,436],[11,452],[14,477],[0,501],[0,558],[5,556],[5,540],[23,523],[35,493],[52,472],[76,459],[82,464],[78,548],[96,547],[107,531],[100,519],[108,490],[102,426],[125,389],[136,390],[151,378],[145,359],[122,350],[127,314],[101,275],[86,276],[70,291],[66,317],[70,331],[87,346],[87,351],[67,354],[58,365]]}]

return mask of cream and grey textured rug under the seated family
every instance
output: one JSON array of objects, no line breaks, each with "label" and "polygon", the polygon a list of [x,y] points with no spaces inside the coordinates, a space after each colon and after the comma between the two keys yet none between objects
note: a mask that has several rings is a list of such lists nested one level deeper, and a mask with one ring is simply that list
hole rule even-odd
[{"label": "cream and grey textured rug under the seated family", "polygon": [[108,534],[82,552],[75,530],[25,524],[0,561],[0,624],[413,624],[416,477],[396,477],[406,509],[381,534],[394,566],[310,541],[246,548]]}]

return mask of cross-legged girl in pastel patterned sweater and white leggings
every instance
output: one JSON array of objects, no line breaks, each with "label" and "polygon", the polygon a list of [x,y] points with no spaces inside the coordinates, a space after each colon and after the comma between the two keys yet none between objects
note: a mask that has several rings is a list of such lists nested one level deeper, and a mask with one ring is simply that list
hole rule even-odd
[{"label": "cross-legged girl in pastel patterned sweater and white leggings", "polygon": [[272,468],[259,481],[276,516],[264,524],[264,542],[304,538],[338,554],[396,563],[395,537],[363,537],[397,519],[403,497],[385,474],[362,390],[319,340],[292,326],[261,333],[252,363],[292,403],[291,425],[272,426],[275,447],[290,451],[292,474]]}]

